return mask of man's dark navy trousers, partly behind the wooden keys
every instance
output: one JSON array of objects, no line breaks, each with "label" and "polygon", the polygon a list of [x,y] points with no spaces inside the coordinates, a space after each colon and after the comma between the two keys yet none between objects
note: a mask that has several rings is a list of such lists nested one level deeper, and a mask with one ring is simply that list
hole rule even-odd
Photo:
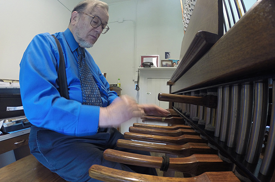
[{"label": "man's dark navy trousers, partly behind the wooden keys", "polygon": [[157,175],[156,170],[152,168],[105,160],[103,152],[106,149],[150,155],[150,152],[118,148],[116,146],[118,139],[124,139],[124,137],[115,128],[100,128],[96,135],[75,137],[31,126],[29,148],[39,162],[69,182],[98,182],[90,178],[88,174],[93,164],[123,171]]}]

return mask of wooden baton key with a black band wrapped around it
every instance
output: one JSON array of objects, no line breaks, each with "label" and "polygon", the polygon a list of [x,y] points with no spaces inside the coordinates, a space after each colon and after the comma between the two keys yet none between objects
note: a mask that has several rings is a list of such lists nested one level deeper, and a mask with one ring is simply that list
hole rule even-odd
[{"label": "wooden baton key with a black band wrapped around it", "polygon": [[[122,152],[113,149],[104,151],[104,158],[113,162],[137,165],[143,167],[161,168],[162,157]],[[168,170],[200,175],[204,172],[227,171],[230,164],[222,161],[216,154],[192,154],[188,157],[169,159]]]}]

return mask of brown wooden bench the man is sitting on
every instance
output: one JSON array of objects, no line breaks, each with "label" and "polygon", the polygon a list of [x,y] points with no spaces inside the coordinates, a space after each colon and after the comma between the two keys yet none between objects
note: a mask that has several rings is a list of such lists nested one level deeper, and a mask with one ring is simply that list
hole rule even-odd
[{"label": "brown wooden bench the man is sitting on", "polygon": [[0,182],[66,182],[28,155],[0,168]]}]

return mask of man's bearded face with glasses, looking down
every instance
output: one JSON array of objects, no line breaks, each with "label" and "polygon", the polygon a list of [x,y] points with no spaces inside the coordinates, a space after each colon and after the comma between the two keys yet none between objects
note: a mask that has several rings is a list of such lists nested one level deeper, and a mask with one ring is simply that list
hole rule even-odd
[{"label": "man's bearded face with glasses, looking down", "polygon": [[[91,12],[85,12],[85,13],[98,17],[101,20],[102,24],[105,24],[105,25],[108,24],[109,14],[108,14],[108,11],[104,8],[95,7],[92,13]],[[91,20],[92,20],[91,16],[88,16],[82,13],[80,19],[76,23],[75,38],[81,47],[85,47],[85,48],[92,47],[103,30],[101,25],[98,28],[93,28],[90,24]]]}]

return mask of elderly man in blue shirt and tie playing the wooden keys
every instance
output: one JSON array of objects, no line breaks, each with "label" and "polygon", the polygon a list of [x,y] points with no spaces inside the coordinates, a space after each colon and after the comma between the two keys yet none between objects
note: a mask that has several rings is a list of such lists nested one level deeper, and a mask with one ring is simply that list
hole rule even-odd
[{"label": "elderly man in blue shirt and tie playing the wooden keys", "polygon": [[156,174],[155,169],[103,158],[106,149],[149,155],[148,152],[118,149],[116,141],[123,135],[111,126],[142,114],[168,114],[155,105],[138,105],[132,98],[120,98],[110,91],[108,82],[85,50],[93,46],[101,33],[109,30],[108,8],[99,0],[82,1],[72,11],[68,29],[54,34],[63,51],[69,99],[59,93],[59,53],[51,34],[36,35],[20,63],[21,97],[32,124],[30,152],[44,166],[70,182],[96,181],[88,176],[93,164]]}]

